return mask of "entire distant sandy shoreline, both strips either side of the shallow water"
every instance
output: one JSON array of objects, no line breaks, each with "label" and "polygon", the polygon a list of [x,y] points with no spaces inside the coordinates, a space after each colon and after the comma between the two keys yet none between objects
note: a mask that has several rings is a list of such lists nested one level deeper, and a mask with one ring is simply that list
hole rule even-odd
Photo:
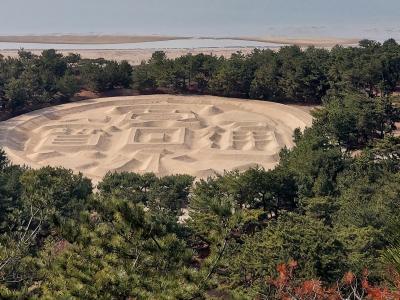
[{"label": "entire distant sandy shoreline, both strips either side of the shallow water", "polygon": [[[122,45],[125,43],[140,44],[145,42],[164,42],[174,40],[189,40],[191,37],[177,36],[122,36],[122,35],[25,35],[25,36],[0,36],[0,43],[25,43],[43,45],[43,49],[48,48],[46,45],[68,44],[77,45],[76,49],[57,49],[58,52],[67,55],[69,53],[77,53],[82,58],[96,59],[105,58],[108,60],[122,61],[126,60],[132,65],[138,65],[142,61],[147,61],[152,54],[161,50],[164,51],[168,58],[174,59],[188,53],[208,54],[215,56],[230,57],[238,51],[243,54],[249,54],[255,48],[261,49],[279,49],[283,45],[298,45],[300,47],[315,46],[321,48],[332,48],[335,45],[352,46],[358,43],[356,39],[292,39],[292,38],[255,38],[255,37],[198,37],[199,40],[237,40],[237,41],[253,41],[265,43],[265,46],[232,46],[232,47],[178,47],[178,48],[132,48],[132,49],[103,49],[101,45]],[[78,45],[95,45],[95,49],[78,48]],[[97,48],[98,47],[98,48]],[[25,50],[31,51],[34,54],[40,54],[43,49],[30,49],[25,47]],[[3,56],[18,56],[19,49],[0,49],[0,55]]]}]

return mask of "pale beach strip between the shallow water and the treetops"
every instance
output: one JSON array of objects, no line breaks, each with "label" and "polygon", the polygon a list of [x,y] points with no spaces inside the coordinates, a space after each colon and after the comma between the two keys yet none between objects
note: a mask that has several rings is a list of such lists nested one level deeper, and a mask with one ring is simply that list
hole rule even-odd
[{"label": "pale beach strip between the shallow water and the treetops", "polygon": [[[28,49],[26,49],[28,50]],[[67,55],[69,53],[80,54],[82,58],[96,59],[104,58],[108,60],[127,60],[132,65],[139,65],[142,61],[147,61],[151,58],[152,54],[157,49],[132,49],[132,50],[89,50],[89,49],[75,49],[75,50],[57,50],[57,52]],[[215,56],[230,57],[232,53],[238,51],[243,54],[249,54],[254,51],[254,47],[246,48],[196,48],[196,49],[160,49],[164,51],[168,58],[174,59],[186,55],[188,53],[196,54],[208,54]],[[43,50],[29,50],[34,54],[39,55]],[[18,50],[0,50],[0,55],[5,57],[17,57]]]}]

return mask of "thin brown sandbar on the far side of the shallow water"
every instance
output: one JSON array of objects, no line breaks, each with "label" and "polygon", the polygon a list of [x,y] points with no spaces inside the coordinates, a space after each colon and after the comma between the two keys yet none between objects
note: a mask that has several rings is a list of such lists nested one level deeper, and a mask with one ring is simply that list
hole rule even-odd
[{"label": "thin brown sandbar on the far side of the shallow water", "polygon": [[213,39],[213,40],[237,40],[251,41],[268,44],[298,45],[333,47],[335,45],[355,45],[360,39],[349,38],[288,38],[288,37],[185,37],[162,35],[3,35],[0,43],[32,43],[32,44],[135,44],[144,42],[161,42],[188,39]]}]

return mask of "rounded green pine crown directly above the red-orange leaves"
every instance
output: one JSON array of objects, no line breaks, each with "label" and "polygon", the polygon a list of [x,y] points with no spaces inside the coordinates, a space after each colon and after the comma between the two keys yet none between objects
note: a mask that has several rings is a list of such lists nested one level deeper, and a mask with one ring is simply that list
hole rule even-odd
[{"label": "rounded green pine crown directly above the red-orange leaves", "polygon": [[[229,253],[222,275],[239,290],[251,286],[262,291],[265,277],[277,263],[299,260],[301,278],[321,278],[335,282],[346,266],[343,245],[335,233],[322,222],[296,214],[283,214],[261,231],[245,237],[243,245]],[[233,248],[235,249],[235,248]]]}]

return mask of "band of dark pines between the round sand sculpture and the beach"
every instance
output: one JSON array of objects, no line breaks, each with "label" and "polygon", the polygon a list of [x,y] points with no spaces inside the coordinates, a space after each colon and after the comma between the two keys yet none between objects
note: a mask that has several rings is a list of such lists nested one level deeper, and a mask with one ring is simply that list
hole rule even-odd
[{"label": "band of dark pines between the round sand sculpture and the beach", "polygon": [[82,59],[46,50],[0,56],[0,114],[18,114],[68,101],[81,90],[134,88],[141,93],[199,93],[278,102],[319,104],[345,91],[371,98],[391,95],[400,80],[400,45],[363,40],[359,47],[331,50],[287,46],[255,49],[230,58],[155,52],[139,66]]}]

